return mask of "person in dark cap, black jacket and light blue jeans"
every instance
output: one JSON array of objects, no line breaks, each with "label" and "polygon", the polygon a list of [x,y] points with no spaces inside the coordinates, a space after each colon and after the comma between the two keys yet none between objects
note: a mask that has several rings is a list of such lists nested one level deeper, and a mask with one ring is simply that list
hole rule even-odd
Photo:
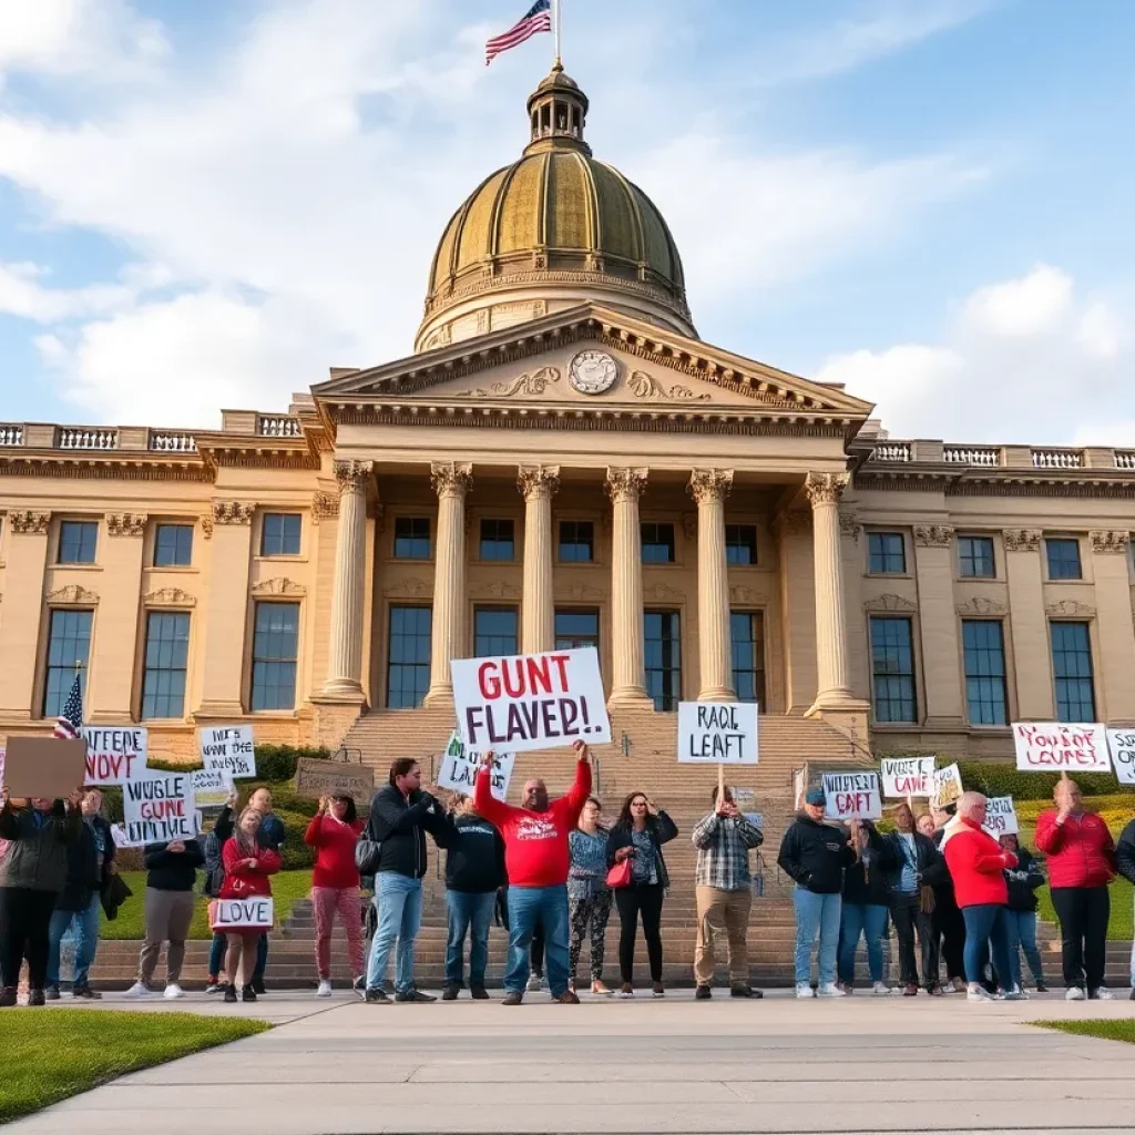
[{"label": "person in dark cap, black jacket and light blue jeans", "polygon": [[[843,997],[835,984],[843,868],[855,861],[847,833],[824,823],[827,798],[813,789],[781,841],[777,864],[796,882],[796,995]],[[812,945],[819,938],[819,987],[812,989]]]}]

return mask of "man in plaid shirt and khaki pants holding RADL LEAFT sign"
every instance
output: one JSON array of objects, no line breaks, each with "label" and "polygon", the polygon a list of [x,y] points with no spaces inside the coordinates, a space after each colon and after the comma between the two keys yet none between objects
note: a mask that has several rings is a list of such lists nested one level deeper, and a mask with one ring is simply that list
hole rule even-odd
[{"label": "man in plaid shirt and khaki pants holding RADL LEAFT sign", "polygon": [[698,941],[693,950],[693,977],[698,985],[695,997],[705,1001],[713,995],[714,944],[722,935],[729,940],[730,995],[763,997],[760,990],[749,985],[746,936],[753,907],[749,851],[760,847],[764,835],[741,815],[728,788],[721,799],[714,789],[713,801],[714,810],[698,822],[692,836],[698,849]]}]

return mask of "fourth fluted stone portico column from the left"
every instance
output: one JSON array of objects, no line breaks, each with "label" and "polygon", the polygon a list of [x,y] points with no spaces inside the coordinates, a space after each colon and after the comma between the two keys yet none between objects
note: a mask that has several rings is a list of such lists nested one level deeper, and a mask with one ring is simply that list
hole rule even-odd
[{"label": "fourth fluted stone portico column from the left", "polygon": [[642,645],[642,532],[638,513],[647,473],[646,469],[607,470],[606,488],[614,513],[611,536],[614,675],[608,705],[648,703]]}]

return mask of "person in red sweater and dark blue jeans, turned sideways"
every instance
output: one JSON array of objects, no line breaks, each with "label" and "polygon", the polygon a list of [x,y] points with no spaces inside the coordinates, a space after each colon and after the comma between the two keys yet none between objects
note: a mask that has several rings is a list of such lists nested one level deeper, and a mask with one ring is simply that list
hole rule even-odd
[{"label": "person in red sweater and dark blue jeans, turned sideways", "polygon": [[[1017,857],[1004,851],[992,835],[982,829],[985,822],[985,797],[981,792],[962,792],[958,814],[947,825],[942,836],[953,880],[958,907],[966,920],[966,999],[991,1001],[993,995],[982,985],[989,947],[993,948],[993,966],[999,974],[1010,975],[1009,960],[1009,888],[1004,869],[1017,866]],[[1006,999],[1023,1000],[1025,994],[1009,983]]]}]

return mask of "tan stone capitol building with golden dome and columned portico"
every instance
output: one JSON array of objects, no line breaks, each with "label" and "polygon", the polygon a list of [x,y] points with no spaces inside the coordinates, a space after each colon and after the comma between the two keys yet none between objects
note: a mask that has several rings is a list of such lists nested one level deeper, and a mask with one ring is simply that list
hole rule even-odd
[{"label": "tan stone capitol building with golden dome and columned portico", "polygon": [[239,722],[378,762],[437,751],[452,658],[586,645],[613,750],[695,698],[864,758],[1135,723],[1135,449],[893,438],[704,342],[589,109],[554,69],[438,218],[413,355],[219,430],[0,422],[0,733],[78,670],[155,757]]}]

